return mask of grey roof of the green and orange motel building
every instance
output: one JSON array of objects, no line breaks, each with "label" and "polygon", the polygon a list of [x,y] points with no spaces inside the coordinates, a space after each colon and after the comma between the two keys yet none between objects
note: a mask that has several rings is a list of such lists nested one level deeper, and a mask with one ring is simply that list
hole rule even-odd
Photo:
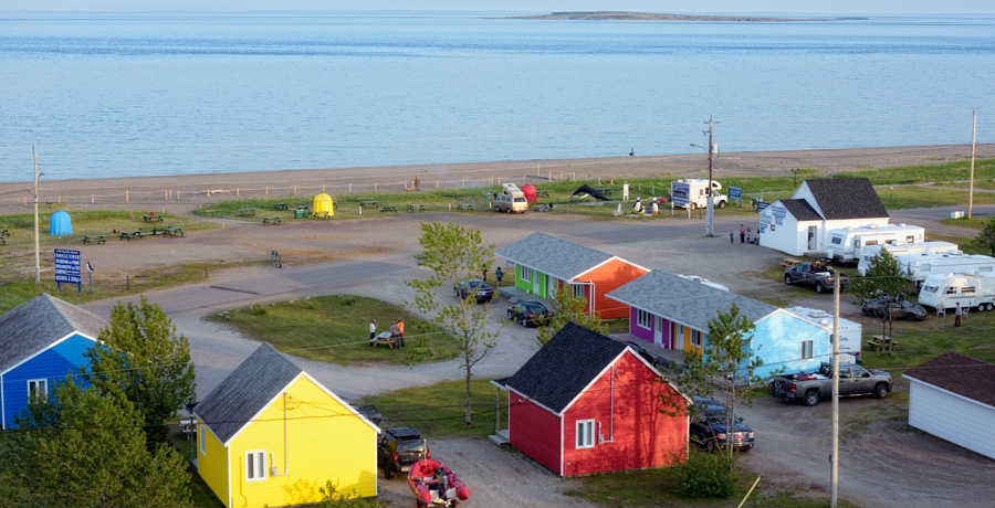
[{"label": "grey roof of the green and orange motel building", "polygon": [[556,278],[574,277],[612,258],[610,254],[559,240],[545,233],[533,233],[496,254],[512,263],[537,269]]}]

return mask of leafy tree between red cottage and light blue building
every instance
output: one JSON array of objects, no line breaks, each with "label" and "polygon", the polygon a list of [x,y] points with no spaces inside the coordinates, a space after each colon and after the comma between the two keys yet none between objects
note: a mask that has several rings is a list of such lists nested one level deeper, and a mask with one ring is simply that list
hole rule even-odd
[{"label": "leafy tree between red cottage and light blue building", "polygon": [[[740,314],[740,307],[733,304],[729,313],[719,315],[709,321],[709,334],[703,339],[703,353],[690,353],[681,363],[682,370],[675,374],[675,382],[689,395],[706,395],[715,393],[724,402],[725,428],[734,428],[737,404],[752,404],[753,388],[766,384],[771,377],[755,374],[764,364],[756,356],[760,348],[753,349],[751,339],[756,326],[748,317]],[[664,400],[664,413],[678,412],[671,400]],[[696,408],[689,408],[695,412]],[[731,441],[731,440],[730,440]],[[726,446],[729,473],[732,474],[733,447]]]}]

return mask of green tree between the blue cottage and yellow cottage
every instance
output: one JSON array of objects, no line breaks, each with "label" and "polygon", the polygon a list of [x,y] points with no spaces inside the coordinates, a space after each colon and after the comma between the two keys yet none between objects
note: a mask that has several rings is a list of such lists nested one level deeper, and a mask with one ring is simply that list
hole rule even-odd
[{"label": "green tree between the blue cottage and yellow cottage", "polygon": [[149,443],[165,442],[166,421],[196,400],[190,342],[144,296],[139,306],[118,301],[111,327],[84,356],[80,374],[101,393],[130,401],[145,419]]}]

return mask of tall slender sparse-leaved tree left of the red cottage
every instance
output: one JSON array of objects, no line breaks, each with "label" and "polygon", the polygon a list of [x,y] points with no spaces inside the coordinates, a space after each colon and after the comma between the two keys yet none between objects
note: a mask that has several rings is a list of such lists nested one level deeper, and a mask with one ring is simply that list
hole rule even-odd
[{"label": "tall slender sparse-leaved tree left of the red cottage", "polygon": [[[490,301],[476,304],[473,294],[460,296],[453,290],[453,303],[443,303],[437,294],[449,294],[449,287],[467,278],[476,278],[494,262],[494,244],[484,243],[480,230],[467,230],[452,223],[432,222],[421,224],[421,253],[415,255],[419,266],[431,271],[428,278],[409,281],[415,289],[413,306],[429,316],[428,321],[443,330],[457,346],[460,367],[467,373],[467,425],[472,423],[470,414],[470,381],[473,366],[483,360],[498,346],[498,331],[486,331]],[[411,305],[411,304],[408,304]],[[425,340],[413,340],[410,350],[413,362],[425,361],[434,356]]]}]

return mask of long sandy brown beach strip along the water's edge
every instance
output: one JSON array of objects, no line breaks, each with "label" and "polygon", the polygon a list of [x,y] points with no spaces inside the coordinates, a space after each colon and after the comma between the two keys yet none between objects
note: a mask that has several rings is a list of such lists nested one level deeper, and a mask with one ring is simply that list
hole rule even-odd
[{"label": "long sandy brown beach strip along the water's edge", "polygon": [[[995,152],[995,144],[978,145],[982,154]],[[938,145],[918,147],[846,148],[820,150],[781,150],[762,152],[720,154],[713,159],[713,176],[787,176],[794,168],[820,170],[826,176],[840,171],[872,170],[902,166],[941,165],[968,160],[971,145]],[[360,189],[374,192],[402,191],[410,188],[418,177],[422,182],[442,177],[467,181],[470,184],[486,182],[491,178],[553,180],[595,178],[706,178],[705,154],[669,156],[611,157],[596,159],[517,160],[503,162],[465,162],[442,165],[380,166],[334,169],[292,169],[276,171],[222,172],[176,174],[157,177],[115,177],[74,180],[44,180],[39,183],[39,200],[62,202],[62,197],[80,198],[106,193],[136,192],[229,192],[228,188],[324,188],[325,186]],[[0,182],[0,211],[31,204],[33,182]],[[376,189],[375,189],[376,188]],[[235,191],[235,193],[238,193]]]}]

